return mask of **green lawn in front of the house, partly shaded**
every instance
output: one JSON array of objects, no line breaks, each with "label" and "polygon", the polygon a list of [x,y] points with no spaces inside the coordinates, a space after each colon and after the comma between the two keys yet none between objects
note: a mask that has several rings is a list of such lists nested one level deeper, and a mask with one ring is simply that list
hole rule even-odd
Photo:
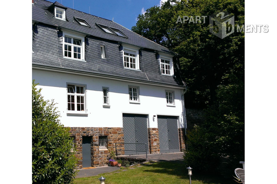
[{"label": "green lawn in front of the house, partly shaded", "polygon": [[[103,177],[106,178],[105,184],[189,184],[189,176],[186,167],[182,163],[174,162],[151,162],[150,165],[143,165],[143,167],[134,167],[135,169],[124,168],[128,171],[119,173],[105,173]],[[115,171],[118,172],[118,171]],[[99,184],[98,178],[101,174],[94,177],[77,178],[74,179],[74,184]],[[218,177],[210,175],[197,176],[193,173],[192,184],[227,184],[234,183],[234,181],[223,180]]]}]

